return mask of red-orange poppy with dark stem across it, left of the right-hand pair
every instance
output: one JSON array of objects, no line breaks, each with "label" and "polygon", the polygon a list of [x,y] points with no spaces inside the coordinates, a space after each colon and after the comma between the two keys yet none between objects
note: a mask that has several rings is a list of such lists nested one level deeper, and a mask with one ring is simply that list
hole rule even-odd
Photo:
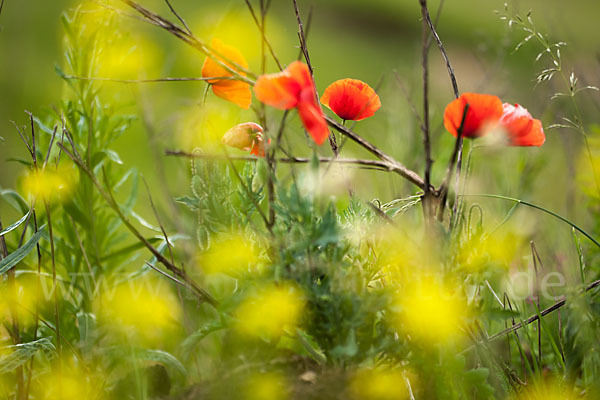
[{"label": "red-orange poppy with dark stem across it, left of the right-hand pair", "polygon": [[444,126],[454,136],[462,122],[465,106],[469,109],[462,128],[462,137],[476,138],[485,135],[490,126],[495,125],[502,116],[502,101],[489,94],[464,93],[453,100],[444,111]]}]

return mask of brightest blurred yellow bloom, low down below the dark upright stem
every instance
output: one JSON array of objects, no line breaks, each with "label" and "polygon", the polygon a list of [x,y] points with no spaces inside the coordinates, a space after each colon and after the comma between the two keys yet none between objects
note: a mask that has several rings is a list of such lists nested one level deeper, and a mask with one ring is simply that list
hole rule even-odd
[{"label": "brightest blurred yellow bloom, low down below the dark upright stem", "polygon": [[457,338],[467,316],[466,302],[434,279],[424,277],[411,282],[396,294],[398,329],[426,342],[446,342]]}]

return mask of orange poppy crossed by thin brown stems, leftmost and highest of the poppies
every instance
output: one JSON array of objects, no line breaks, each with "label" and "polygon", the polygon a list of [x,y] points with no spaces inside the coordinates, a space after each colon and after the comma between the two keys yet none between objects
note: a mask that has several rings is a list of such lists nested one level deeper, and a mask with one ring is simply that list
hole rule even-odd
[{"label": "orange poppy crossed by thin brown stems, leftmost and highest of the poppies", "polygon": [[[223,57],[243,68],[248,68],[248,62],[242,53],[240,53],[235,47],[226,45],[219,39],[213,39],[211,46]],[[233,65],[226,63],[225,61],[223,62],[229,67],[235,69]],[[246,75],[241,71],[239,71],[239,73],[243,76]],[[233,76],[233,74],[219,65],[212,58],[207,57],[206,60],[204,60],[204,65],[202,65],[203,78],[230,76]],[[215,95],[237,104],[242,108],[250,108],[250,104],[252,103],[252,91],[250,90],[250,85],[248,83],[230,79],[210,79],[208,83],[211,85]]]}]

